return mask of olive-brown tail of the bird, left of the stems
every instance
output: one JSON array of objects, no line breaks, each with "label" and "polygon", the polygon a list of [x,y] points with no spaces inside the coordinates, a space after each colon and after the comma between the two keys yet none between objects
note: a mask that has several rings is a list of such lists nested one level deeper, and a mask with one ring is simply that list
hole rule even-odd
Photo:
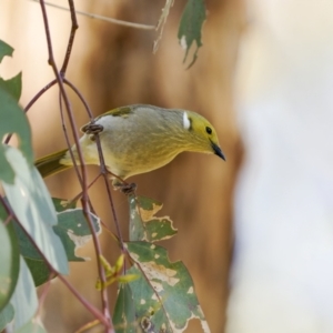
[{"label": "olive-brown tail of the bird, left of the stems", "polygon": [[64,165],[60,163],[60,160],[64,157],[67,151],[67,149],[60,150],[34,162],[34,167],[38,169],[42,178],[47,178],[71,168],[71,165]]}]

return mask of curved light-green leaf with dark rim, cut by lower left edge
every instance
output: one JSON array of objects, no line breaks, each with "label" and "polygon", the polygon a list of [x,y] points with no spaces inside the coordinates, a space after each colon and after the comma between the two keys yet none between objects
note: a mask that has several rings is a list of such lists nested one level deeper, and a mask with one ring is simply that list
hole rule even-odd
[{"label": "curved light-green leaf with dark rim, cut by lower left edge", "polygon": [[4,225],[0,216],[0,311],[9,302],[18,282],[20,252],[11,223]]}]

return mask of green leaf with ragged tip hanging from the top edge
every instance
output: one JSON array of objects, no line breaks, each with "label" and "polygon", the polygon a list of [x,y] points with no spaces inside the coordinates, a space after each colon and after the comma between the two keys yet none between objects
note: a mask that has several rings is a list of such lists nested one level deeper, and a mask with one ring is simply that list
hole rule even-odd
[{"label": "green leaf with ragged tip hanging from the top edge", "polygon": [[195,42],[195,51],[193,59],[188,69],[192,67],[198,58],[199,48],[202,47],[201,30],[205,21],[205,4],[204,0],[188,0],[178,30],[178,39],[181,47],[185,50],[183,62],[186,61],[189,50]]}]

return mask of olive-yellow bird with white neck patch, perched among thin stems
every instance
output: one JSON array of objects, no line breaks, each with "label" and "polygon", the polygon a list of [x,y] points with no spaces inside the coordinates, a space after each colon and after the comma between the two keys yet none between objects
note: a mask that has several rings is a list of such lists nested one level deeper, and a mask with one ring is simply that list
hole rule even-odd
[{"label": "olive-yellow bird with white neck patch, perched among thin stems", "polygon": [[[215,154],[225,161],[216,132],[199,113],[149,104],[120,107],[81,128],[80,148],[85,164],[100,165],[95,133],[104,163],[117,189],[132,175],[150,172],[184,151]],[[80,164],[77,147],[71,148]],[[43,178],[73,167],[68,149],[36,161]]]}]

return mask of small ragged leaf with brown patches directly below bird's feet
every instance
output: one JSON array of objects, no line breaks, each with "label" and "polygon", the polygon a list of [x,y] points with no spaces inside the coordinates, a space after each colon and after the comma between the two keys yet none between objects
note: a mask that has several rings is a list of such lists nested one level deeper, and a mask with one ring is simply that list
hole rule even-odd
[{"label": "small ragged leaf with brown patches directly below bird's feet", "polygon": [[162,203],[145,196],[129,195],[130,241],[158,242],[176,234],[169,216],[157,218]]}]

